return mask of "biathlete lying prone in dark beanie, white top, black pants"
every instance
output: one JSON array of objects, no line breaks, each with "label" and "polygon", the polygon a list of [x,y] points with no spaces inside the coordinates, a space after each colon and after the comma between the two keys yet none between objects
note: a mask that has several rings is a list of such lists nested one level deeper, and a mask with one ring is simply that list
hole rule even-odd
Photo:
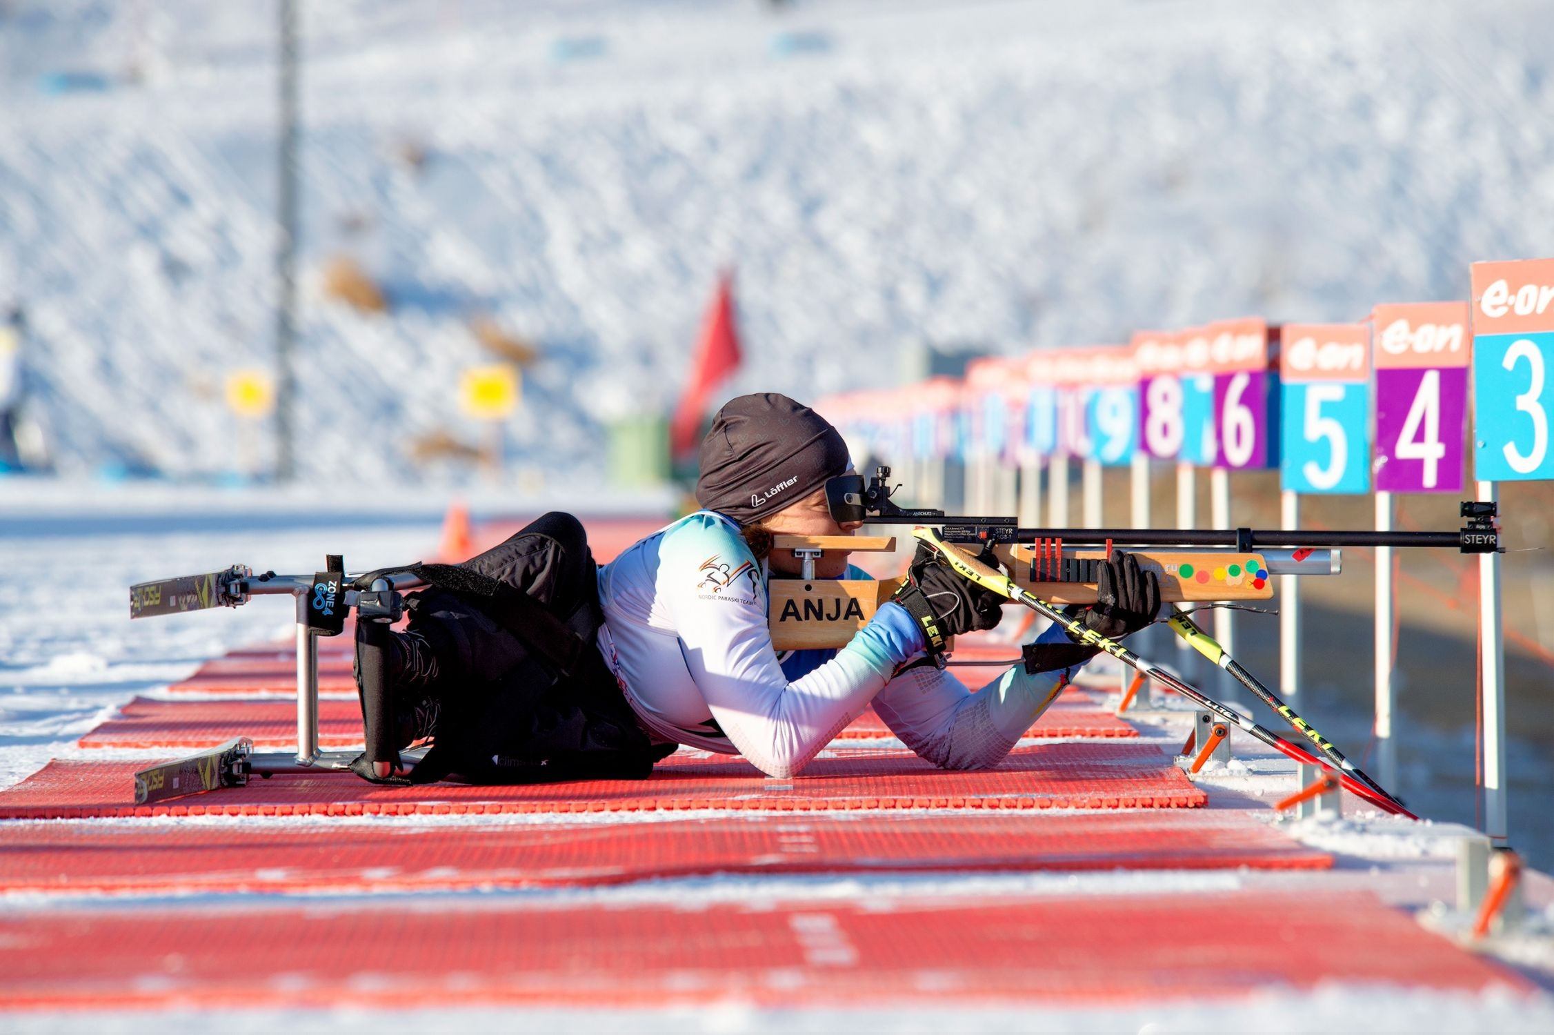
[{"label": "biathlete lying prone in dark beanie, white top, black pants", "polygon": [[[996,626],[1005,601],[926,547],[847,646],[772,648],[766,584],[800,573],[772,538],[852,535],[858,522],[838,522],[825,493],[848,476],[841,434],[810,407],[774,393],[732,399],[701,444],[702,510],[603,567],[564,513],[465,561],[527,594],[542,620],[446,587],[412,595],[406,632],[390,634],[387,674],[399,746],[429,738],[432,748],[409,775],[382,763],[357,772],[393,783],[645,777],[688,744],[786,777],[870,704],[936,766],[998,765],[1061,674],[1096,650],[1054,626],[1038,640],[1044,671],[1015,665],[973,693],[936,656],[943,637]],[[991,553],[982,559],[996,566]],[[841,552],[821,556],[814,575],[867,578]],[[1156,577],[1120,552],[1100,589],[1083,623],[1108,639],[1159,611]]]}]

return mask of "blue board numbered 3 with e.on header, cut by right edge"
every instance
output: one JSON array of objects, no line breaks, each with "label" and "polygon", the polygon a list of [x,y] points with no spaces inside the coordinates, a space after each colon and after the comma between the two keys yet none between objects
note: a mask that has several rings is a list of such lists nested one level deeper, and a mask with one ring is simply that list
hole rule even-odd
[{"label": "blue board numbered 3 with e.on header, cut by right edge", "polygon": [[1554,477],[1549,378],[1554,260],[1473,263],[1473,471],[1481,482]]}]

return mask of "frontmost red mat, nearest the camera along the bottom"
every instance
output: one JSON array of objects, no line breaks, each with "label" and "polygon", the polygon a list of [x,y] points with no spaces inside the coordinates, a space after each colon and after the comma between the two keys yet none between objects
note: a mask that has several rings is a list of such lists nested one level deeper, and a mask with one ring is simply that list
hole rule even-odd
[{"label": "frontmost red mat, nearest the camera along the bottom", "polygon": [[1534,995],[1364,892],[813,903],[323,900],[11,915],[0,1001],[765,1007],[1223,1001],[1349,984]]}]

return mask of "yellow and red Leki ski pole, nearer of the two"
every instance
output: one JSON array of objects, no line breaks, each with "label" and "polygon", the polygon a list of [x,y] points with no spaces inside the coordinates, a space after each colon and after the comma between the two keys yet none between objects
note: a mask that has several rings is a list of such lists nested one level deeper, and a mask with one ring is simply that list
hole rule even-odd
[{"label": "yellow and red Leki ski pole, nearer of the two", "polygon": [[1259,740],[1259,741],[1268,744],[1270,748],[1273,748],[1273,749],[1276,749],[1276,751],[1288,755],[1290,758],[1294,758],[1296,761],[1302,761],[1305,765],[1318,766],[1321,769],[1327,769],[1327,771],[1333,772],[1333,775],[1338,777],[1338,782],[1344,786],[1344,789],[1350,791],[1357,797],[1361,797],[1361,799],[1371,802],[1372,805],[1377,805],[1378,808],[1382,808],[1385,811],[1389,811],[1389,813],[1394,813],[1394,814],[1399,814],[1399,816],[1406,816],[1409,819],[1419,819],[1411,811],[1408,811],[1408,808],[1402,802],[1399,802],[1397,799],[1394,799],[1391,794],[1386,794],[1385,791],[1380,791],[1380,793],[1374,791],[1372,788],[1369,788],[1364,783],[1361,783],[1360,780],[1354,779],[1352,775],[1349,775],[1343,769],[1335,768],[1330,761],[1327,761],[1324,758],[1318,758],[1316,755],[1313,755],[1312,752],[1305,751],[1304,748],[1301,748],[1298,744],[1291,744],[1284,737],[1279,737],[1277,734],[1273,734],[1273,732],[1263,729],[1262,726],[1259,726],[1253,720],[1246,718],[1240,712],[1237,712],[1237,710],[1234,710],[1234,709],[1231,709],[1231,707],[1228,707],[1225,704],[1220,704],[1218,701],[1215,701],[1215,699],[1209,698],[1207,695],[1204,695],[1203,692],[1200,692],[1197,687],[1192,687],[1187,682],[1184,682],[1184,681],[1178,679],[1176,676],[1173,676],[1172,673],[1166,671],[1159,665],[1156,665],[1156,664],[1153,664],[1153,662],[1150,662],[1150,660],[1147,660],[1147,659],[1134,654],[1131,650],[1128,650],[1122,643],[1117,643],[1116,640],[1110,640],[1105,636],[1100,636],[1094,629],[1088,628],[1083,622],[1075,622],[1074,619],[1068,617],[1066,614],[1063,614],[1061,611],[1058,611],[1057,608],[1054,608],[1047,601],[1041,600],[1035,594],[1027,592],[1024,587],[1021,587],[1009,575],[1004,575],[1002,572],[998,572],[998,570],[988,567],[987,564],[982,564],[976,558],[967,555],[963,550],[960,550],[960,549],[957,549],[957,547],[945,542],[943,539],[939,538],[939,535],[934,533],[932,528],[914,528],[912,530],[912,536],[917,538],[918,541],[928,544],[939,556],[942,556],[945,559],[946,564],[949,564],[951,567],[954,567],[956,572],[959,572],[963,578],[967,578],[967,580],[970,580],[970,581],[973,581],[973,583],[976,583],[979,586],[984,586],[987,589],[991,589],[993,592],[996,592],[996,594],[999,594],[1002,597],[1009,597],[1015,603],[1021,603],[1021,605],[1030,608],[1032,611],[1035,611],[1037,614],[1040,614],[1040,615],[1043,615],[1046,619],[1051,619],[1060,628],[1063,628],[1071,636],[1077,637],[1085,645],[1094,646],[1097,650],[1102,650],[1102,651],[1111,654],[1113,657],[1116,657],[1117,660],[1120,660],[1124,665],[1128,665],[1130,668],[1133,668],[1133,670],[1136,670],[1139,673],[1144,673],[1144,676],[1147,676],[1148,679],[1155,679],[1161,685],[1175,690],[1176,693],[1179,693],[1181,696],[1187,698],[1193,704],[1197,704],[1197,706],[1200,706],[1200,707],[1203,707],[1203,709],[1206,709],[1209,712],[1214,712],[1215,715],[1218,715],[1225,721],[1237,726],[1239,729],[1242,729],[1243,732],[1249,734],[1256,740]]}]

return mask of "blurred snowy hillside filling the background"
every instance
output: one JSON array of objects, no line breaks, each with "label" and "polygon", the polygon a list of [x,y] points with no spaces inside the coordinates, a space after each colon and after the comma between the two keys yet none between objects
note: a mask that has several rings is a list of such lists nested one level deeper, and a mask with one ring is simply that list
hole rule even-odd
[{"label": "blurred snowy hillside filling the background", "polygon": [[[474,438],[477,314],[542,354],[510,455],[601,472],[603,421],[673,402],[724,264],[730,390],[813,398],[923,342],[1355,319],[1554,253],[1546,3],[300,8],[309,479]],[[274,347],[275,22],[0,3],[0,301],[65,472],[235,465],[221,385]],[[323,297],[337,255],[388,314]]]}]

